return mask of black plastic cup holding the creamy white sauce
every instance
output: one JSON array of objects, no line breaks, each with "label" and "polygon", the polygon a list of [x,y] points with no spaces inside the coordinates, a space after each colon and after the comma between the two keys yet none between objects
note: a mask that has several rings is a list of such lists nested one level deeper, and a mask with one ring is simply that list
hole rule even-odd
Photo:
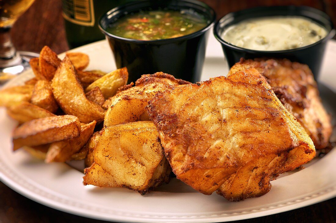
[{"label": "black plastic cup holding the creamy white sauce", "polygon": [[[234,46],[221,38],[227,27],[240,21],[251,18],[268,16],[303,16],[317,22],[327,29],[327,36],[316,43],[308,46],[280,51],[259,51]],[[331,18],[324,12],[308,6],[269,6],[245,9],[232,12],[222,17],[214,27],[214,35],[221,43],[229,67],[233,66],[240,58],[253,59],[258,57],[287,58],[307,64],[317,79],[322,60],[329,39],[335,35]]]}]

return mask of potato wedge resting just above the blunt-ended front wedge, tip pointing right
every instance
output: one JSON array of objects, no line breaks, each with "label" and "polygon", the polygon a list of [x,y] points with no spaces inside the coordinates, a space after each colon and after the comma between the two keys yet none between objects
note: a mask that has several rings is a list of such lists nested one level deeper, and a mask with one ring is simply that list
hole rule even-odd
[{"label": "potato wedge resting just above the blunt-ended front wedge, tip pointing right", "polygon": [[46,109],[40,108],[29,102],[21,102],[20,104],[13,105],[7,109],[7,114],[18,121],[24,123],[38,118],[46,118],[55,116],[53,113]]}]

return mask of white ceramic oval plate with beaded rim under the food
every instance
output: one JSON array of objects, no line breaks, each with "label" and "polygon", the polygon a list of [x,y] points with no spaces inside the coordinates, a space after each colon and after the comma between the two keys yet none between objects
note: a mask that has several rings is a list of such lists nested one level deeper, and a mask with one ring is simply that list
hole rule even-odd
[{"label": "white ceramic oval plate with beaded rim under the food", "polygon": [[[88,69],[115,69],[105,41],[74,51],[90,56]],[[335,58],[336,41],[331,41],[320,81],[334,90]],[[202,80],[226,75],[227,70],[221,47],[211,36]],[[28,71],[7,86],[23,83],[31,76]],[[80,216],[120,222],[222,222],[289,211],[336,196],[335,149],[321,159],[314,159],[305,169],[272,181],[272,189],[264,196],[235,203],[217,194],[203,195],[176,178],[145,196],[124,188],[83,186],[83,174],[67,164],[44,164],[23,150],[12,152],[10,134],[15,122],[2,108],[0,126],[0,180],[34,201]]]}]

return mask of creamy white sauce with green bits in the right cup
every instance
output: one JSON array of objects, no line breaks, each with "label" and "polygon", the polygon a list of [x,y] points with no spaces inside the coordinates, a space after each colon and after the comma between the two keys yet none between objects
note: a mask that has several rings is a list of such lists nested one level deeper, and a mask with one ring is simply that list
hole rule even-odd
[{"label": "creamy white sauce with green bits in the right cup", "polygon": [[262,17],[229,26],[222,34],[226,42],[251,50],[288,50],[323,39],[327,30],[310,19],[297,16]]}]

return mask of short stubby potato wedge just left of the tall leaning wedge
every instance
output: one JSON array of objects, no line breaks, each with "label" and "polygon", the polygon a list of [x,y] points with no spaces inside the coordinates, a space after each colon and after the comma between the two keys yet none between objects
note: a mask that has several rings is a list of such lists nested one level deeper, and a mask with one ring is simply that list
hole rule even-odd
[{"label": "short stubby potato wedge just left of the tall leaning wedge", "polygon": [[36,82],[31,98],[31,103],[44,108],[51,113],[55,113],[58,104],[51,90],[51,83],[47,80],[39,80]]}]

